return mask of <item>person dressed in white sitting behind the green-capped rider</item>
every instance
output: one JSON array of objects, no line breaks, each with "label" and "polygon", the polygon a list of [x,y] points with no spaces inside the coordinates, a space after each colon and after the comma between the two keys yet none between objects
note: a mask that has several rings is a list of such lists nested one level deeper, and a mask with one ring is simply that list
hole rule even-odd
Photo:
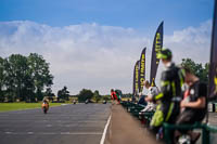
[{"label": "person dressed in white sitting behind the green-capped rider", "polygon": [[[151,87],[150,82],[148,80],[144,81],[144,87],[148,89],[148,96],[154,97],[159,93],[159,90],[156,87]],[[144,97],[145,100],[145,97]],[[144,112],[154,112],[156,109],[156,105],[153,102],[148,102],[148,105],[144,107],[144,109],[141,110],[141,113]]]}]

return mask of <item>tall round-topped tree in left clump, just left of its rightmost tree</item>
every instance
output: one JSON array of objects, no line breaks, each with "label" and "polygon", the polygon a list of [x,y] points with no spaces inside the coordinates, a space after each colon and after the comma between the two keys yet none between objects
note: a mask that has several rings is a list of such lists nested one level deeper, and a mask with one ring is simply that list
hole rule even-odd
[{"label": "tall round-topped tree in left clump, just left of its rightmost tree", "polygon": [[4,68],[9,101],[15,101],[16,99],[25,101],[26,96],[30,96],[26,93],[26,89],[29,87],[29,81],[31,81],[27,58],[21,54],[12,54],[5,62]]}]

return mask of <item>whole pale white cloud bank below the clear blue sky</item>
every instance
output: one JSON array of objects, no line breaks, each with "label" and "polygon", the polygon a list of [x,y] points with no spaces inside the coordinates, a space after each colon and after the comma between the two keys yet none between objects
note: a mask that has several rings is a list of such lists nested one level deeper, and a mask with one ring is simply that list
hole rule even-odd
[{"label": "whole pale white cloud bank below the clear blue sky", "polygon": [[[210,21],[174,31],[164,40],[165,47],[175,53],[176,62],[191,57],[205,63],[209,55]],[[82,88],[100,90],[102,94],[108,93],[111,88],[131,92],[133,65],[144,45],[148,47],[149,78],[152,42],[153,38],[137,29],[95,23],[65,27],[29,21],[0,23],[0,56],[30,52],[43,55],[54,75],[54,92],[63,86],[67,86],[72,94]]]}]

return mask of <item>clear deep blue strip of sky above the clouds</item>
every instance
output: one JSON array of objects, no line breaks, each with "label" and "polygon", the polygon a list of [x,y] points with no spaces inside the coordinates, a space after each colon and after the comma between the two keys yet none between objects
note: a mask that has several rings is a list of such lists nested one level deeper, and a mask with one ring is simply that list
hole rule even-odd
[{"label": "clear deep blue strip of sky above the clouds", "polygon": [[50,26],[98,23],[148,34],[165,21],[165,32],[170,34],[210,19],[213,5],[214,0],[0,0],[0,21]]}]

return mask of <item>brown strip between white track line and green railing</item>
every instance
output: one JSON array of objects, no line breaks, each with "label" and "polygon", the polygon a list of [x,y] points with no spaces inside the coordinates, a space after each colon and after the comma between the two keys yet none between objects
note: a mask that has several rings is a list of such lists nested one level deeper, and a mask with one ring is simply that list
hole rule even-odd
[{"label": "brown strip between white track line and green railing", "polygon": [[159,144],[122,105],[112,106],[105,144]]}]

